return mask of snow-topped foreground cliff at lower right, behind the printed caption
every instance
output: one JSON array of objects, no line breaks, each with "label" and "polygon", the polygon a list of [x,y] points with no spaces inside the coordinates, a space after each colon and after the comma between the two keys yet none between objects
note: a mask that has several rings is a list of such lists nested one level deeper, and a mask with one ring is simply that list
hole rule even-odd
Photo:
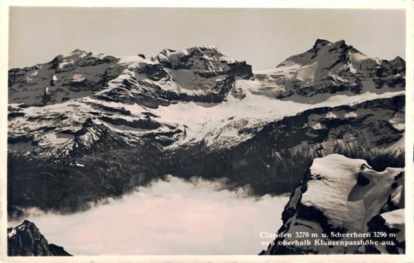
[{"label": "snow-topped foreground cliff at lower right, behind the printed caption", "polygon": [[315,158],[262,254],[404,253],[403,189],[402,168],[375,171],[339,154]]}]

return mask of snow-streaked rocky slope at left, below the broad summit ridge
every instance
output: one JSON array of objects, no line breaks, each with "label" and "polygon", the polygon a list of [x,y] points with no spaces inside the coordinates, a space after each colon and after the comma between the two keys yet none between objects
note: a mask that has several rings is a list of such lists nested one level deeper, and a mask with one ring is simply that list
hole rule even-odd
[{"label": "snow-streaked rocky slope at left, below the broad summit ridge", "polygon": [[[47,107],[10,105],[9,151],[37,158],[65,158],[139,144],[146,136],[168,134],[168,145],[181,129],[160,124],[139,105],[79,98]],[[24,123],[24,125],[22,125]]]}]

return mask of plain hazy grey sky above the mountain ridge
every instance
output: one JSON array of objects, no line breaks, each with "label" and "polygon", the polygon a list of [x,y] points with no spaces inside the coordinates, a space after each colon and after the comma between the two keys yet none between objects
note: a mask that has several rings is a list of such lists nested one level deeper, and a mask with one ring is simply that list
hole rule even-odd
[{"label": "plain hazy grey sky above the mountain ridge", "polygon": [[405,59],[405,11],[13,7],[9,67],[45,63],[77,48],[150,57],[163,48],[214,45],[266,70],[318,38],[344,39],[380,59]]}]

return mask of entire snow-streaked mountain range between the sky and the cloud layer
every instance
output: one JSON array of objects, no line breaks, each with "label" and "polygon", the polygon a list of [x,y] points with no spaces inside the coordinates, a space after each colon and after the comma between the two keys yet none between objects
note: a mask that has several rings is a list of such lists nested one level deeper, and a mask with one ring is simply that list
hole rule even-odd
[{"label": "entire snow-streaked mountain range between the sky and the cloud layer", "polygon": [[328,154],[404,167],[404,76],[400,58],[322,40],[266,72],[209,46],[10,70],[9,215],[81,211],[168,173],[264,195]]}]

